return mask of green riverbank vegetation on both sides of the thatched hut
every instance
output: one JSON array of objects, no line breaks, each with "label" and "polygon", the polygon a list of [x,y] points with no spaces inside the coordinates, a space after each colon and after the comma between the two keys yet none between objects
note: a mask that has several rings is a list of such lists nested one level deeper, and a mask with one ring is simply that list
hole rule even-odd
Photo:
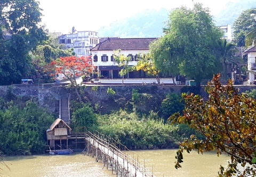
[{"label": "green riverbank vegetation on both sides of the thatched hut", "polygon": [[[111,91],[111,94],[110,94]],[[109,104],[116,101],[114,90],[108,89]],[[187,125],[170,125],[168,115],[181,111],[181,94],[169,92],[165,96],[133,90],[131,99],[117,111],[102,114],[90,101],[71,101],[71,128],[98,130],[129,149],[178,148],[182,138],[195,133]],[[162,100],[162,101],[161,101]],[[147,105],[151,105],[151,107]],[[146,106],[145,106],[146,105]],[[146,109],[148,107],[148,109]],[[151,108],[154,108],[152,110]],[[0,151],[5,155],[29,155],[47,149],[45,131],[58,117],[38,106],[38,100],[15,96],[9,88],[0,99]]]}]

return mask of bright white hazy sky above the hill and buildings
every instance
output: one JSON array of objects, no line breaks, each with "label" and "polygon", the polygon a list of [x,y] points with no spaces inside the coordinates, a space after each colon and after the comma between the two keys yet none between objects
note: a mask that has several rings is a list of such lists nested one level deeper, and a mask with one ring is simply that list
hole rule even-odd
[{"label": "bright white hazy sky above the hill and buildings", "polygon": [[[212,15],[218,14],[228,2],[238,0],[194,0],[209,7]],[[42,22],[50,32],[69,33],[75,26],[78,31],[97,31],[101,26],[122,20],[146,9],[171,10],[181,5],[193,6],[192,0],[39,0],[43,9]]]}]

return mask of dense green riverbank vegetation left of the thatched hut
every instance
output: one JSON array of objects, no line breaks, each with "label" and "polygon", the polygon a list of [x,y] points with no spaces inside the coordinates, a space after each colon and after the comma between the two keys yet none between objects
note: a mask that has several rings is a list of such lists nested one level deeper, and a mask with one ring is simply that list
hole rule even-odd
[{"label": "dense green riverbank vegetation left of the thatched hut", "polygon": [[44,152],[47,148],[45,131],[54,117],[39,108],[34,100],[22,105],[0,98],[0,103],[1,154],[30,155]]}]

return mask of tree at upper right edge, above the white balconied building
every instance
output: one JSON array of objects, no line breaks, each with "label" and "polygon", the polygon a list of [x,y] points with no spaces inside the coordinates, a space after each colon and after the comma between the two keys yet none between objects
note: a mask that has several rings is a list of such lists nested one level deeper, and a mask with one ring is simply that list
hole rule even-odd
[{"label": "tree at upper right edge, above the white balconied building", "polygon": [[252,44],[255,38],[255,15],[256,9],[247,9],[234,22],[233,41],[237,46],[248,46]]}]

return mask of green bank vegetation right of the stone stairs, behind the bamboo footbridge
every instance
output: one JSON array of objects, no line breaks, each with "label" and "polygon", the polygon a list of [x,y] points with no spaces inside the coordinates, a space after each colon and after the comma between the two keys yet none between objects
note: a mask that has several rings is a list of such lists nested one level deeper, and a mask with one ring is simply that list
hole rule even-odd
[{"label": "green bank vegetation right of the stone stairs, behind the bamboo footbridge", "polygon": [[158,104],[158,111],[139,111],[141,102],[150,101],[151,97],[153,96],[150,94],[138,93],[133,89],[131,100],[123,108],[110,114],[95,114],[96,110],[93,111],[90,104],[72,101],[71,128],[74,131],[85,131],[87,128],[97,130],[129,149],[178,148],[179,141],[192,133],[196,134],[193,128],[185,124],[171,125],[166,120],[171,114],[181,112],[184,108],[180,93],[167,93],[162,104]]}]

